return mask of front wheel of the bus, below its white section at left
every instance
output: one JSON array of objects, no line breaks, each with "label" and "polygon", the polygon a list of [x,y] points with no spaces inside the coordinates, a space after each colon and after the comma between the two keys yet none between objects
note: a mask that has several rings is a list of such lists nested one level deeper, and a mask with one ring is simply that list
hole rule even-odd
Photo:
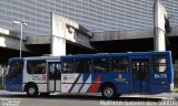
[{"label": "front wheel of the bus, below its white section at left", "polygon": [[37,95],[38,95],[38,88],[37,88],[37,86],[34,86],[34,85],[29,85],[29,86],[27,87],[27,95],[30,96],[30,97],[37,96]]}]

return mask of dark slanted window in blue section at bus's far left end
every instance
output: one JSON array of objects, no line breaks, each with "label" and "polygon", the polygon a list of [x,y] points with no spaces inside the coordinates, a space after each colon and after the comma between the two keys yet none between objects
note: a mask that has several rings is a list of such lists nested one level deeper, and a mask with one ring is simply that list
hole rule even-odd
[{"label": "dark slanted window in blue section at bus's far left end", "polygon": [[14,76],[22,73],[23,70],[23,62],[22,61],[16,61],[10,64],[8,75]]}]

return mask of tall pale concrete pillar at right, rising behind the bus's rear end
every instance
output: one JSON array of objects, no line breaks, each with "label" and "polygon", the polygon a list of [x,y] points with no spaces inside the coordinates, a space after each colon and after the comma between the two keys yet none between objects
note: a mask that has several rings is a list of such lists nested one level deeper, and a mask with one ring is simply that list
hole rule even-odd
[{"label": "tall pale concrete pillar at right, rising behind the bus's rear end", "polygon": [[155,51],[166,51],[166,8],[160,0],[155,0],[154,6],[154,28],[155,28]]}]

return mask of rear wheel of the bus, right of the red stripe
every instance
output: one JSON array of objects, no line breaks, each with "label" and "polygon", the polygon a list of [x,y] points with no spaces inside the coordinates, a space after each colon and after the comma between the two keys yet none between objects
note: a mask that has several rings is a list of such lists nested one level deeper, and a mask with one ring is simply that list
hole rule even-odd
[{"label": "rear wheel of the bus, right of the red stripe", "polygon": [[113,85],[107,84],[102,87],[101,94],[105,98],[115,98],[117,96],[117,91]]}]

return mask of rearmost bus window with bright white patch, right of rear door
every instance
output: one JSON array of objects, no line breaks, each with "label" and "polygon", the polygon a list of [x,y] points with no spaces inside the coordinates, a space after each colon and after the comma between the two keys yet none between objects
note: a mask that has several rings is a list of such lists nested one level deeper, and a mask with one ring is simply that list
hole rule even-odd
[{"label": "rearmost bus window with bright white patch, right of rear door", "polygon": [[166,56],[154,56],[152,57],[152,70],[155,72],[166,72],[167,71],[167,59]]}]

